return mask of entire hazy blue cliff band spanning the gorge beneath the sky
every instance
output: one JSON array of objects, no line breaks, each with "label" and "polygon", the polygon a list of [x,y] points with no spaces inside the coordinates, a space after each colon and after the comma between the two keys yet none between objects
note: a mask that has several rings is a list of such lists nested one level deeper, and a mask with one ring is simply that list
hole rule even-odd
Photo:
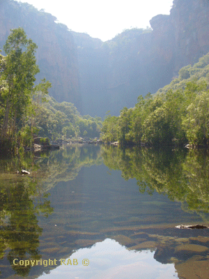
[{"label": "entire hazy blue cliff band spanning the gorge beneath the sky", "polygon": [[1,0],[0,49],[9,29],[23,27],[38,45],[38,77],[52,82],[50,94],[92,116],[133,107],[139,95],[155,93],[209,52],[208,0],[174,0],[170,15],[150,20],[152,29],[127,30],[105,43],[55,20],[29,4]]}]

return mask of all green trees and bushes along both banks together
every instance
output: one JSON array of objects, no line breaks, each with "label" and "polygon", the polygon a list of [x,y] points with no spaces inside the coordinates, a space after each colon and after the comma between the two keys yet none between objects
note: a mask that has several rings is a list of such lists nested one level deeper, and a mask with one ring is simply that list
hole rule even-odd
[{"label": "all green trees and bushes along both banks together", "polygon": [[209,144],[209,54],[199,63],[179,71],[171,84],[155,95],[139,96],[135,107],[120,116],[81,116],[72,103],[58,103],[48,96],[45,78],[34,86],[37,45],[24,30],[13,29],[0,56],[1,150],[16,152],[31,146],[39,133],[50,140],[99,137],[125,144]]}]

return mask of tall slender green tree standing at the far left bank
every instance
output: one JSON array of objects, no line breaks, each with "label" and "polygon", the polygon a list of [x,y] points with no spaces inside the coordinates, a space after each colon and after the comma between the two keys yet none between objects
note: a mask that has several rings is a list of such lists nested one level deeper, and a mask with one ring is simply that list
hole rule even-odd
[{"label": "tall slender green tree standing at the far left bank", "polygon": [[26,38],[22,28],[11,29],[3,47],[6,57],[0,80],[1,84],[6,84],[0,92],[4,114],[1,144],[17,142],[17,127],[23,126],[23,119],[31,104],[35,75],[39,72],[36,48],[37,45]]}]

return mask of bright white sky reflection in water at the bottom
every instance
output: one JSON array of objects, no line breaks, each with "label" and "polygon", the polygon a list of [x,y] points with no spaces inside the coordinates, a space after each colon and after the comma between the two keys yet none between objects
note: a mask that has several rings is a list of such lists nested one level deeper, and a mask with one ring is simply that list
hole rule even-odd
[{"label": "bright white sky reflection in water at the bottom", "polygon": [[[126,279],[127,276],[138,279],[139,274],[141,279],[178,278],[173,264],[160,264],[154,259],[154,254],[155,252],[150,250],[127,250],[117,241],[105,239],[91,248],[79,249],[72,253],[71,257],[65,259],[66,265],[62,264],[48,276],[43,275],[39,279]],[[86,259],[89,259],[88,266],[85,265]]]}]

